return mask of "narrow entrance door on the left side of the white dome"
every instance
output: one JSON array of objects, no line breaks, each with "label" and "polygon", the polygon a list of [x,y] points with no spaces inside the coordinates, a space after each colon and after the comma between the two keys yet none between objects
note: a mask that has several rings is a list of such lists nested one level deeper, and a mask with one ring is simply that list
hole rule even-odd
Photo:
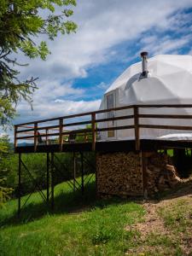
[{"label": "narrow entrance door on the left side of the white dome", "polygon": [[[115,108],[115,92],[111,92],[106,96],[106,108]],[[110,111],[107,113],[107,118],[113,118],[115,117],[115,111]],[[108,128],[114,127],[115,121],[108,121]],[[108,132],[108,137],[116,137],[116,131],[114,130],[109,130]]]}]

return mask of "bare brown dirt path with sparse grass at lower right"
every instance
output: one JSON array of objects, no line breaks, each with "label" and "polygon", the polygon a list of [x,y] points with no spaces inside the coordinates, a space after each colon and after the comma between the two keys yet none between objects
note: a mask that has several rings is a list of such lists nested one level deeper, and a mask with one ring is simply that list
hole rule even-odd
[{"label": "bare brown dirt path with sparse grass at lower right", "polygon": [[192,255],[192,182],[160,201],[144,201],[146,215],[141,223],[126,230],[137,230],[138,247],[125,255]]}]

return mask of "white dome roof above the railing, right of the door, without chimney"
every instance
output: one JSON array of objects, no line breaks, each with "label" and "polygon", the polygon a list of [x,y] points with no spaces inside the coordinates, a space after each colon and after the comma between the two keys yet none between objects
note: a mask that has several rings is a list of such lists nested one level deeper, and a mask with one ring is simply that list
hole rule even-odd
[{"label": "white dome roof above the railing, right of the door, without chimney", "polygon": [[140,78],[142,62],[128,67],[105,93],[119,90],[119,104],[191,103],[192,56],[156,55],[148,59],[148,78]]}]

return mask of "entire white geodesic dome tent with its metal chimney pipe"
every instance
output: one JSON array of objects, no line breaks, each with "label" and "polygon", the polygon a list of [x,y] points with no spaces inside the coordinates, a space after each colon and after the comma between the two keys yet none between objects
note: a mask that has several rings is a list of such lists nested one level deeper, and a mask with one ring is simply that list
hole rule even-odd
[{"label": "entire white geodesic dome tent with its metal chimney pipe", "polygon": [[[192,56],[156,55],[147,61],[128,67],[106,90],[100,109],[119,108],[129,105],[184,105],[192,104]],[[139,114],[185,114],[191,108],[140,108]],[[133,114],[132,109],[100,113],[99,118],[111,118]],[[186,125],[192,127],[192,119],[139,119],[140,124]],[[122,119],[100,123],[99,128],[134,125],[133,119]],[[140,129],[141,139],[192,140],[192,131],[167,129]],[[100,140],[135,139],[134,130],[100,132]]]}]

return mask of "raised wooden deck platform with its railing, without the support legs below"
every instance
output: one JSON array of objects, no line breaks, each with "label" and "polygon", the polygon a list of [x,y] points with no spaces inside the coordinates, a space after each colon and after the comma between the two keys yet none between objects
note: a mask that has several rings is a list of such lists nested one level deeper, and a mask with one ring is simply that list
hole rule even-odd
[{"label": "raised wooden deck platform with its railing, without the support legs below", "polygon": [[[191,141],[163,141],[146,140],[140,138],[140,129],[168,129],[191,131],[192,126],[187,125],[148,125],[140,123],[140,119],[192,119],[189,114],[141,114],[141,108],[192,108],[192,105],[134,105],[121,108],[104,109],[89,113],[78,113],[53,119],[42,119],[24,124],[15,125],[15,153],[49,153],[49,152],[80,152],[80,151],[148,151],[158,148],[192,148]],[[132,114],[115,115],[120,110],[131,109]],[[105,113],[106,118],[99,118]],[[132,119],[132,125],[112,125],[99,128],[98,124]],[[132,129],[135,140],[99,141],[98,133],[103,131],[119,131]],[[69,141],[69,137],[78,137]],[[68,141],[67,141],[68,139]],[[20,142],[30,140],[32,146],[20,146]],[[40,142],[39,142],[40,141]]]}]

